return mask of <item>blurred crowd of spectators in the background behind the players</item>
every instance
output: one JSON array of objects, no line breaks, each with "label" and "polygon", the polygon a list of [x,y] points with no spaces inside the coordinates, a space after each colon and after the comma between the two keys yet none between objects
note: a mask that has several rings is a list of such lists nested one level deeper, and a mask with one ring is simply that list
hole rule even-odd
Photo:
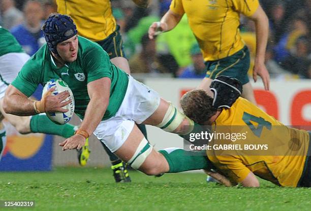
[{"label": "blurred crowd of spectators in the background behind the players", "polygon": [[[134,74],[203,78],[205,65],[187,17],[172,31],[150,40],[148,27],[169,9],[171,0],[152,0],[147,9],[130,0],[112,0],[113,15],[120,25],[126,56]],[[261,0],[269,18],[266,66],[271,78],[311,78],[311,0]],[[41,26],[56,12],[53,0],[0,0],[0,25],[9,29],[25,52],[33,55],[44,43]],[[255,26],[241,17],[240,31],[254,59]],[[252,61],[253,63],[253,61]],[[250,76],[252,75],[252,68]]]}]

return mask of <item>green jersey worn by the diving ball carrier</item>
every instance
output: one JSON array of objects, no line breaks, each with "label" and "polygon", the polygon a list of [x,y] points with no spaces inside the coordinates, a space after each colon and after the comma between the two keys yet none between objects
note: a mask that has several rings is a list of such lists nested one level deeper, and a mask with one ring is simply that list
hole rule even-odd
[{"label": "green jersey worn by the diving ball carrier", "polygon": [[[111,79],[109,105],[103,120],[114,116],[126,94],[129,78],[110,62],[108,54],[98,44],[78,36],[78,56],[74,62],[57,67],[48,46],[43,45],[22,67],[12,85],[30,96],[37,86],[51,79],[62,79],[73,92],[75,113],[84,118],[89,102],[87,83],[108,77]],[[94,111],[96,112],[96,111]]]}]

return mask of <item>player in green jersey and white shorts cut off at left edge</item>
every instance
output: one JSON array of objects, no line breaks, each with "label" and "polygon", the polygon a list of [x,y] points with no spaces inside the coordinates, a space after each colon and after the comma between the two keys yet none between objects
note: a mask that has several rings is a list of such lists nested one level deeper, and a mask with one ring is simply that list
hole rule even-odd
[{"label": "player in green jersey and white shorts cut off at left edge", "polygon": [[41,132],[68,138],[75,132],[73,125],[56,125],[46,115],[19,117],[4,112],[2,104],[5,91],[28,59],[29,55],[23,51],[14,36],[0,26],[0,159],[6,146],[6,130],[2,123],[4,118],[22,134]]}]

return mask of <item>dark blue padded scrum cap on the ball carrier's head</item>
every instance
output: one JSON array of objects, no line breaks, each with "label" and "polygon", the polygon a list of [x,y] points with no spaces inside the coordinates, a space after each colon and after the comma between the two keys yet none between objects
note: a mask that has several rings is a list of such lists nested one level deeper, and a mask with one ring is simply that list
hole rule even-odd
[{"label": "dark blue padded scrum cap on the ball carrier's head", "polygon": [[42,26],[45,41],[53,53],[57,54],[58,43],[68,40],[78,33],[77,26],[70,16],[52,14]]}]

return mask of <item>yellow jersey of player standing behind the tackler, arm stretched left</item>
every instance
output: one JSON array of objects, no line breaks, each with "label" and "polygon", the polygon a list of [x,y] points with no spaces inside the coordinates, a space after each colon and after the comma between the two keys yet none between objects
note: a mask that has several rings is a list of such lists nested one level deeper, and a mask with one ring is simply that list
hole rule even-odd
[{"label": "yellow jersey of player standing behind the tackler, arm stretched left", "polygon": [[188,16],[204,60],[213,61],[243,48],[240,14],[250,17],[258,7],[258,0],[173,0],[170,9]]}]

